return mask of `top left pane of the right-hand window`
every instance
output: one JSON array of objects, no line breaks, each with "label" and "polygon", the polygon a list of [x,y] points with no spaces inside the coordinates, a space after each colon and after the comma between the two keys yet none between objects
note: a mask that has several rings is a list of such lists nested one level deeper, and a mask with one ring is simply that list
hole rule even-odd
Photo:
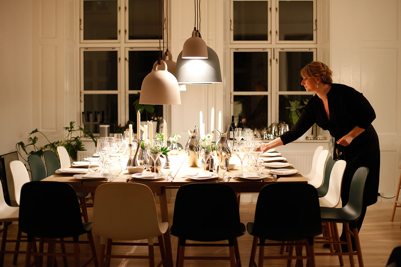
[{"label": "top left pane of the right-hand window", "polygon": [[233,40],[267,41],[268,19],[267,1],[233,1]]}]

